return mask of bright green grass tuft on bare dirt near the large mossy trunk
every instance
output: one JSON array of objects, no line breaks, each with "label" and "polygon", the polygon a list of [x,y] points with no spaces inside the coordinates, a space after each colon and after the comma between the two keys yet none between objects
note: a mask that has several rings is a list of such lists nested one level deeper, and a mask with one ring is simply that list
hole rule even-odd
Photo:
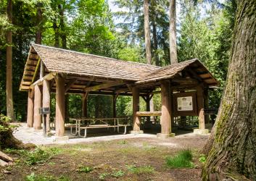
[{"label": "bright green grass tuft on bare dirt near the large mossy trunk", "polygon": [[166,157],[166,164],[170,168],[193,168],[192,157],[191,150],[182,150],[176,156]]}]

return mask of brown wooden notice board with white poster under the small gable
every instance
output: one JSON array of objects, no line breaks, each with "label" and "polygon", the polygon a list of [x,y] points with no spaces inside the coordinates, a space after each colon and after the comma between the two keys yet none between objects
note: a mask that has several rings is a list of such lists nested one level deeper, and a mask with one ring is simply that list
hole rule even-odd
[{"label": "brown wooden notice board with white poster under the small gable", "polygon": [[173,111],[175,116],[197,116],[195,92],[173,93]]}]

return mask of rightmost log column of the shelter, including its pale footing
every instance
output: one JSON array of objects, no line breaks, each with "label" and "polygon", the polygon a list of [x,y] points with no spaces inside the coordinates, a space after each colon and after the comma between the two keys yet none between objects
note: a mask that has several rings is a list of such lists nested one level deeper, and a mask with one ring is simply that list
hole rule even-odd
[{"label": "rightmost log column of the shelter, including its pale footing", "polygon": [[194,129],[197,134],[207,134],[209,130],[205,129],[205,111],[204,111],[204,88],[197,86],[197,114],[199,129]]}]

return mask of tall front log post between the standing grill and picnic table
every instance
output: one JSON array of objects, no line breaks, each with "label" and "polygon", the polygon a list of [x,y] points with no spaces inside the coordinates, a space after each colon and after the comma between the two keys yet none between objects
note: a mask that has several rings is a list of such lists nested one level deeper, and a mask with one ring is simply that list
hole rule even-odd
[{"label": "tall front log post between the standing grill and picnic table", "polygon": [[56,122],[57,136],[65,135],[65,80],[61,75],[56,75]]}]

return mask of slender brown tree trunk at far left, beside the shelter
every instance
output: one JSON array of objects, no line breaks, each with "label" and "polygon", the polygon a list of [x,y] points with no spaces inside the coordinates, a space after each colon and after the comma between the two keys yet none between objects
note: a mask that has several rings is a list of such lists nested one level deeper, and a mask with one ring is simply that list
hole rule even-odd
[{"label": "slender brown tree trunk at far left, beside the shelter", "polygon": [[[7,17],[12,24],[12,0],[7,1]],[[7,116],[15,120],[12,99],[12,30],[7,30]]]}]

